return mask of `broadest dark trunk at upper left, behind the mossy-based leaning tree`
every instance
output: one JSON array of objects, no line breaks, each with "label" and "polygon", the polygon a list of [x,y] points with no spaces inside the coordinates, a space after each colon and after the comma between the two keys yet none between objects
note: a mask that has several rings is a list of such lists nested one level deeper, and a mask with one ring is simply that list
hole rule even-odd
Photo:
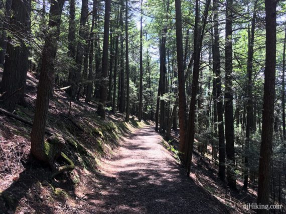
[{"label": "broadest dark trunk at upper left, behind the mossy-based leaning tree", "polygon": [[[0,105],[13,111],[15,105],[24,102],[27,72],[29,68],[29,33],[31,27],[31,0],[13,0],[13,16],[9,30],[12,32],[7,44],[7,55],[0,92]],[[15,39],[16,44],[15,44]]]}]

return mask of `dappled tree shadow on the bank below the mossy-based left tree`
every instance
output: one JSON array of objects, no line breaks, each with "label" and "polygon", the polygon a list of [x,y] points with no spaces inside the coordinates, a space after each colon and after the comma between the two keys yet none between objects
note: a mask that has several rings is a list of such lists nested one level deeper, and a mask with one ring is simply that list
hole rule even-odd
[{"label": "dappled tree shadow on the bank below the mossy-based left tree", "polygon": [[[51,195],[55,194],[56,188],[60,187],[74,195],[74,183],[68,174],[57,175],[58,181],[51,179],[49,167],[39,163],[31,155],[23,162],[23,166],[25,169],[19,177],[15,177],[11,185],[0,193],[1,213],[15,213],[18,209],[29,213],[54,213]],[[60,195],[57,200],[65,203],[65,198]]]}]

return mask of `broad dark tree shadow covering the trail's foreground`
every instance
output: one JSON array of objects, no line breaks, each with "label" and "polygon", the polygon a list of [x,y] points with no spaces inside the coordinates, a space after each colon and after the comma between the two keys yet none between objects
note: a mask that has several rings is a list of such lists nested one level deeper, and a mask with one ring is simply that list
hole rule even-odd
[{"label": "broad dark tree shadow covering the trail's foreground", "polygon": [[121,171],[116,177],[99,174],[103,193],[90,194],[86,201],[99,201],[96,211],[100,213],[228,213],[223,203],[187,178],[182,169],[168,164],[149,164]]}]

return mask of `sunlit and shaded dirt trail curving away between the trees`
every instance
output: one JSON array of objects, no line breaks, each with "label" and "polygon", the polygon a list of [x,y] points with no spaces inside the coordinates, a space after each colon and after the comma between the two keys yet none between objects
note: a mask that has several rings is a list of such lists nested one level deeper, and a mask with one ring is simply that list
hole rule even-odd
[{"label": "sunlit and shaded dirt trail curving away between the trees", "polygon": [[[226,213],[225,206],[187,178],[152,126],[125,136],[112,159],[100,166],[87,213]],[[100,193],[98,193],[100,191]]]}]

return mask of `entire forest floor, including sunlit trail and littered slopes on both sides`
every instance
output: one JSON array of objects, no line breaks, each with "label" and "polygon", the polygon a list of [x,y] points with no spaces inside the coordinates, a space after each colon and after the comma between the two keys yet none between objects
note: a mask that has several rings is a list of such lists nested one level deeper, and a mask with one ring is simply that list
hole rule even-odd
[{"label": "entire forest floor, including sunlit trail and littered slopes on both sides", "polygon": [[[37,83],[29,73],[26,104],[14,112],[27,121],[35,111]],[[68,109],[65,92],[55,91],[47,130],[64,137],[64,152],[76,168],[54,179],[48,166],[29,155],[31,126],[0,112],[0,213],[253,212],[243,204],[255,202],[255,191],[230,190],[208,155],[195,150],[186,176],[176,133],[166,142],[152,122],[126,123],[120,113],[107,112],[102,121],[96,105],[83,99],[72,104],[70,114]]]}]

